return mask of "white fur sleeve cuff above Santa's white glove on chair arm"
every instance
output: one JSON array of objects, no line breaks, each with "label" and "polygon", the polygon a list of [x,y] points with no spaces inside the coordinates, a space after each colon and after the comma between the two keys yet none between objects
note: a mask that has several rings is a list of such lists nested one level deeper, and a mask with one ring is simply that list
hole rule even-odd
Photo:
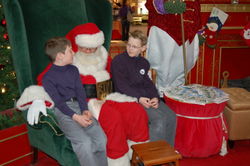
[{"label": "white fur sleeve cuff above Santa's white glove on chair arm", "polygon": [[26,110],[30,107],[30,105],[25,105],[25,104],[30,103],[37,99],[50,102],[51,105],[48,108],[54,107],[54,102],[49,97],[48,93],[44,90],[42,86],[38,86],[38,85],[31,85],[25,88],[21,97],[18,99],[16,103],[16,107],[19,110]]}]

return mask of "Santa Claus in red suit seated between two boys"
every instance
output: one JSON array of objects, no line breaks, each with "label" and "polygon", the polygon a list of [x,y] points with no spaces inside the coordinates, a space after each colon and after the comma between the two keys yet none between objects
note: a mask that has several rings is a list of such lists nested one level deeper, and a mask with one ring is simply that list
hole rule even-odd
[{"label": "Santa Claus in red suit seated between two boys", "polygon": [[[137,99],[111,93],[111,88],[103,88],[104,95],[109,94],[105,101],[98,100],[103,95],[98,94],[99,83],[106,82],[110,86],[110,62],[104,43],[103,32],[94,24],[86,23],[76,26],[67,35],[75,53],[73,65],[81,76],[85,88],[88,107],[94,117],[100,122],[107,135],[107,156],[109,166],[129,166],[131,151],[129,145],[144,142],[149,139],[148,117]],[[51,64],[37,77],[38,85]],[[107,87],[107,86],[105,86]],[[28,109],[27,120],[33,125],[38,123],[40,112],[46,115],[46,107],[52,108],[53,101],[42,86],[26,88],[17,102],[20,110]],[[128,141],[129,140],[129,141]]]}]

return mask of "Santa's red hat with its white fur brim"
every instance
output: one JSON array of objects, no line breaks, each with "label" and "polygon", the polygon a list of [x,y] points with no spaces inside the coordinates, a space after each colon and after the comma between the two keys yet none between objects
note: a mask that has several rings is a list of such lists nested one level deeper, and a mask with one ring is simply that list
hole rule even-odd
[{"label": "Santa's red hat with its white fur brim", "polygon": [[104,43],[104,34],[94,23],[81,24],[73,28],[66,38],[71,41],[73,51],[77,45],[86,48],[96,48]]}]

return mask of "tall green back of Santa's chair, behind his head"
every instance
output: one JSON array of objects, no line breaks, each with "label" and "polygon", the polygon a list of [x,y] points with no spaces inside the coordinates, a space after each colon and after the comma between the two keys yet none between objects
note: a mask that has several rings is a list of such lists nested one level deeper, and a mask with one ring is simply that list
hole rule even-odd
[{"label": "tall green back of Santa's chair, behind his head", "polygon": [[112,7],[108,0],[3,0],[14,68],[20,93],[36,84],[49,59],[44,43],[72,28],[94,22],[104,32],[109,49]]}]

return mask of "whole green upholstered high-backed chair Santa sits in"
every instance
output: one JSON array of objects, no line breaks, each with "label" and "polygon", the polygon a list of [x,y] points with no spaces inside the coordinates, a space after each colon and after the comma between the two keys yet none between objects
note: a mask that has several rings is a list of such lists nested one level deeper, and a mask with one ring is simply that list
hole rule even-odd
[{"label": "whole green upholstered high-backed chair Santa sits in", "polygon": [[[94,22],[104,32],[104,46],[109,50],[112,8],[108,0],[2,1],[21,93],[26,87],[36,84],[37,75],[49,63],[44,43],[51,37],[65,36],[79,24]],[[31,145],[55,158],[61,165],[79,165],[70,142],[56,123],[51,123],[53,110],[48,112],[50,116],[43,117],[44,122],[28,126]]]}]

